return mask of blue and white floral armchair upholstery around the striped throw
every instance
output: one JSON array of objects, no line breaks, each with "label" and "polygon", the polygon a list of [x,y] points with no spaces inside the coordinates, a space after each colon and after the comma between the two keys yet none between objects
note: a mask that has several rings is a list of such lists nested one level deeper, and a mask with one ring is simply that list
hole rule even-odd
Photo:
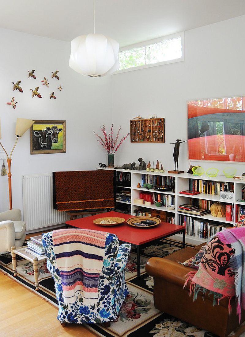
[{"label": "blue and white floral armchair upholstery around the striped throw", "polygon": [[118,237],[115,234],[107,234],[105,258],[99,276],[98,302],[86,306],[83,305],[82,299],[81,302],[64,304],[62,281],[53,252],[52,232],[43,234],[42,242],[48,257],[47,268],[55,283],[56,298],[59,304],[57,318],[60,323],[102,323],[116,319],[122,303],[128,295],[125,266],[131,245],[125,243],[119,246]]}]

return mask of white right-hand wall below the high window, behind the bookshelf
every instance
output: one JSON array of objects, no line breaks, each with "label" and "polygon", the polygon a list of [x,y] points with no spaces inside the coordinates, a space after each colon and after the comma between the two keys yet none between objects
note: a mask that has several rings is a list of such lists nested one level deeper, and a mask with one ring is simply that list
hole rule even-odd
[{"label": "white right-hand wall below the high window, behind the bookshelf", "polygon": [[[130,143],[119,148],[115,163],[122,165],[142,157],[147,163],[161,160],[174,170],[176,139],[187,140],[187,101],[245,95],[245,16],[185,32],[185,61],[112,75],[113,120],[127,131],[129,120],[157,114],[165,118],[166,142]],[[180,144],[179,170],[188,171],[187,143]],[[222,170],[228,163],[192,161],[205,169]],[[232,164],[237,175],[244,164]]]}]

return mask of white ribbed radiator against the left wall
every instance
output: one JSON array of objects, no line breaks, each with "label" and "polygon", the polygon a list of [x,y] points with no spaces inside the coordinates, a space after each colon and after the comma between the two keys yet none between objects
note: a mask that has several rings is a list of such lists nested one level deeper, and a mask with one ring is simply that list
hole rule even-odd
[{"label": "white ribbed radiator against the left wall", "polygon": [[64,223],[69,219],[66,212],[53,209],[52,173],[22,177],[23,216],[27,231]]}]

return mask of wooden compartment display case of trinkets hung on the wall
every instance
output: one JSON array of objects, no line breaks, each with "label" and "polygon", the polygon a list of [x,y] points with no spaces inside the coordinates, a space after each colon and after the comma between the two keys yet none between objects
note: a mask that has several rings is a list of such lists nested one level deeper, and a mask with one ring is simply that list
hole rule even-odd
[{"label": "wooden compartment display case of trinkets hung on the wall", "polygon": [[165,143],[164,118],[130,120],[131,143]]}]

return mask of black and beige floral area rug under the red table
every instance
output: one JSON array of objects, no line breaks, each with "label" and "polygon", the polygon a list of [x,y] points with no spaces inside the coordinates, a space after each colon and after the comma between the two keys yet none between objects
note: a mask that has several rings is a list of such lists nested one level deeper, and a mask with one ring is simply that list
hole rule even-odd
[{"label": "black and beige floral area rug under the red table", "polygon": [[[194,327],[154,308],[153,278],[146,274],[145,265],[151,256],[163,257],[178,249],[182,244],[173,240],[159,240],[148,245],[141,251],[140,272],[141,279],[137,279],[137,255],[132,248],[126,266],[126,280],[129,294],[125,299],[117,319],[109,328],[97,324],[88,325],[88,328],[98,336],[105,337],[213,337],[214,335]],[[46,263],[39,265],[39,287],[36,292],[34,285],[34,271],[30,262],[17,256],[17,282],[34,290],[34,292],[57,306],[54,291],[54,282],[48,273]],[[0,253],[0,270],[13,277],[11,253]]]}]

